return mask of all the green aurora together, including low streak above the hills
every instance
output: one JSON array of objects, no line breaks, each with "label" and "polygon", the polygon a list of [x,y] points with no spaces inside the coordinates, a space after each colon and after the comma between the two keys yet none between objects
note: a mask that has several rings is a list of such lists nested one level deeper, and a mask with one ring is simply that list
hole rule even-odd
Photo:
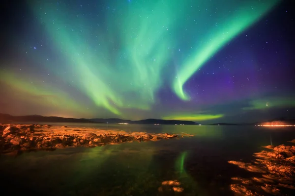
[{"label": "all the green aurora together, including low streak above the hills", "polygon": [[[107,11],[98,13],[101,8],[36,0],[30,8],[55,52],[55,61],[43,62],[43,68],[87,97],[92,112],[103,109],[124,118],[126,109],[151,110],[160,103],[156,95],[167,86],[187,100],[186,81],[277,2],[107,1]],[[60,105],[76,107],[67,100]],[[220,117],[171,118],[203,121]]]}]

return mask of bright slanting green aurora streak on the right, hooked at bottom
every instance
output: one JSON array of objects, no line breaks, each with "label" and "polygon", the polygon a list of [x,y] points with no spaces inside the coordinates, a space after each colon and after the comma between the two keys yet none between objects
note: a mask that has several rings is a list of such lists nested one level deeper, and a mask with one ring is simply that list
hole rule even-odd
[{"label": "bright slanting green aurora streak on the right, hooked at bottom", "polygon": [[[221,24],[216,24],[213,27],[208,26],[210,29],[208,34],[201,35],[201,40],[204,40],[204,44],[198,47],[183,62],[181,69],[177,73],[177,78],[173,82],[173,89],[177,96],[183,100],[188,100],[188,95],[183,91],[185,82],[219,49],[263,17],[277,2],[277,0],[268,0],[266,3],[259,3],[257,1],[244,4],[238,7],[235,12],[229,14]],[[256,9],[253,9],[253,3],[257,4]],[[192,40],[192,42],[194,41]]]}]

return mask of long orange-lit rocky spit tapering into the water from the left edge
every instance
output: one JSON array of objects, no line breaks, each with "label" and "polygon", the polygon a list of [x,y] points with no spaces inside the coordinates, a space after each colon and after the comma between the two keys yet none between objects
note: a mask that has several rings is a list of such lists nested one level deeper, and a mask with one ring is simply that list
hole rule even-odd
[{"label": "long orange-lit rocky spit tapering into the water from the left edge", "polygon": [[[0,153],[55,149],[63,147],[96,147],[132,141],[157,141],[177,138],[175,134],[126,133],[120,130],[51,126],[41,124],[0,124]],[[184,137],[182,135],[182,137]]]}]

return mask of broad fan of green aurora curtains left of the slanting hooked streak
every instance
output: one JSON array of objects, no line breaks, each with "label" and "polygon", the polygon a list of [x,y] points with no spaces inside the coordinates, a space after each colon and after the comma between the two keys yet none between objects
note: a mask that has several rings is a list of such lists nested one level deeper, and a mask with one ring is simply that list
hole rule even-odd
[{"label": "broad fan of green aurora curtains left of the slanting hooked streak", "polygon": [[[110,6],[117,8],[120,3]],[[65,75],[64,79],[73,81],[97,106],[117,115],[121,115],[120,108],[148,110],[155,102],[161,71],[170,57],[167,29],[173,25],[173,6],[170,1],[154,1],[118,9],[117,14],[107,16],[106,30],[99,26],[104,24],[89,29],[83,15],[75,15],[72,21],[71,10],[62,4],[59,9],[64,12],[57,12],[51,3],[33,5],[66,59],[64,66],[73,72],[74,77]],[[90,37],[95,40],[94,48]]]}]

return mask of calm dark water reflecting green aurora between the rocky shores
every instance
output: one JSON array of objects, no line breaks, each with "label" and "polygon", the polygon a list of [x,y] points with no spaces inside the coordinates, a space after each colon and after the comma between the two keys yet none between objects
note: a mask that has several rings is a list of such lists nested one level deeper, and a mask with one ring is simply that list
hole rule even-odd
[{"label": "calm dark water reflecting green aurora between the rocky shores", "polygon": [[[246,177],[249,173],[228,164],[229,160],[250,161],[254,159],[252,153],[262,150],[262,146],[288,144],[287,141],[295,139],[294,127],[59,125],[195,136],[37,151],[17,157],[1,155],[0,171],[4,179],[1,186],[6,187],[2,190],[10,195],[232,195],[231,177]],[[166,180],[179,181],[184,191],[160,193],[158,188]]]}]

